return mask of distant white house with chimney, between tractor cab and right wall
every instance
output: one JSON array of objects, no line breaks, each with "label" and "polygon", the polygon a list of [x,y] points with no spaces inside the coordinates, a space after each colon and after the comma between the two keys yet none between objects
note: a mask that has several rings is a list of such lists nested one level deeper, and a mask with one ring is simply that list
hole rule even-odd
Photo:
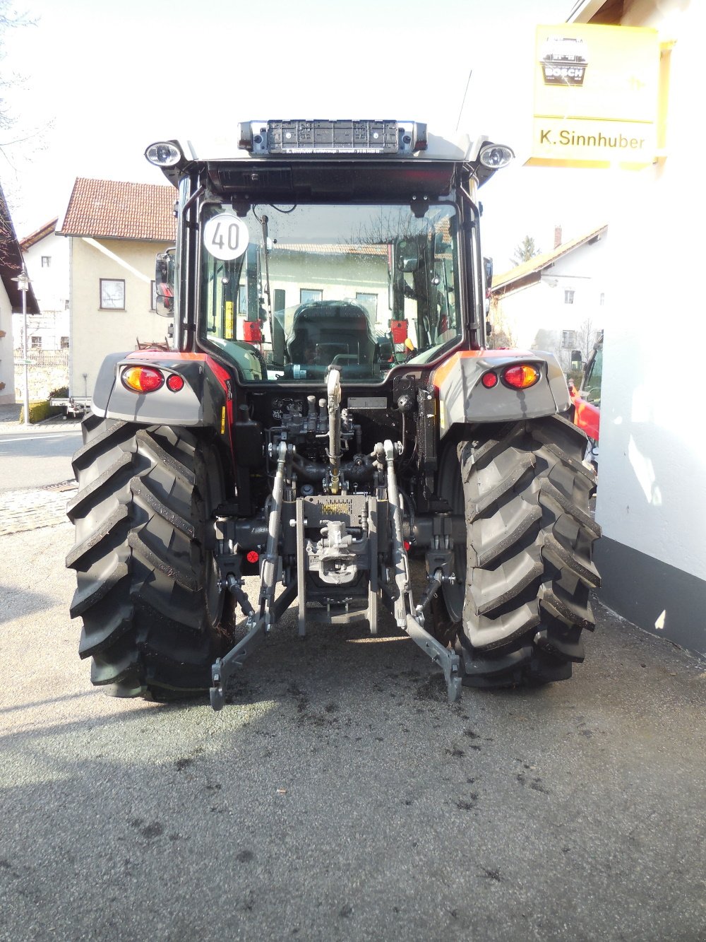
[{"label": "distant white house with chimney, between tractor cab and right wall", "polygon": [[561,243],[551,252],[493,276],[490,346],[554,353],[569,372],[572,354],[586,361],[603,329],[608,259],[607,226]]}]

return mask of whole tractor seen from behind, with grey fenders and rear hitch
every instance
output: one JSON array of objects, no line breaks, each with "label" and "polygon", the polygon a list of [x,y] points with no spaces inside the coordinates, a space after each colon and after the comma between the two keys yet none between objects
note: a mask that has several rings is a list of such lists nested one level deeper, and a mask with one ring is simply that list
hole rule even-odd
[{"label": "whole tractor seen from behind, with grey fenders and rear hitch", "polygon": [[73,459],[92,682],[220,709],[293,605],[302,637],[387,609],[450,702],[570,677],[600,582],[586,435],[554,356],[486,346],[478,190],[512,151],[234,128],[146,152],[175,187],[172,349],[105,358]]}]

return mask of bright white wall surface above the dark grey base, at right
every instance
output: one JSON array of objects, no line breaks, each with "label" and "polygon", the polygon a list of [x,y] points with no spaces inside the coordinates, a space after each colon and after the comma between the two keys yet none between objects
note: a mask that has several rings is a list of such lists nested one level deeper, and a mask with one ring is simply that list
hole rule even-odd
[{"label": "bright white wall surface above the dark grey base, at right", "polygon": [[701,360],[704,4],[635,3],[623,24],[660,28],[671,56],[667,157],[622,173],[610,219],[597,519],[619,543],[706,579]]}]

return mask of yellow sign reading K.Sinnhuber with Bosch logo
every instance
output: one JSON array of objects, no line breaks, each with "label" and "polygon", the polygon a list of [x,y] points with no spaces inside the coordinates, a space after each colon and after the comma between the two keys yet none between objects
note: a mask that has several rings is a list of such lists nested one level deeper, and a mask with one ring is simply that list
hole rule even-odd
[{"label": "yellow sign reading K.Sinnhuber with Bosch logo", "polygon": [[656,29],[538,26],[529,164],[644,167],[657,149]]}]

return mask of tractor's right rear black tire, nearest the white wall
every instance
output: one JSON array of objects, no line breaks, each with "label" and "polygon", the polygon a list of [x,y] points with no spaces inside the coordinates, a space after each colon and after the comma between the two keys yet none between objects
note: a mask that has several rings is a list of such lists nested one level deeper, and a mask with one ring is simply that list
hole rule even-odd
[{"label": "tractor's right rear black tire, nearest the white wall", "polygon": [[468,540],[457,583],[435,604],[437,635],[457,639],[467,685],[566,679],[584,659],[581,632],[595,627],[588,593],[601,582],[586,435],[560,415],[475,431],[441,461],[441,495],[465,513]]}]

